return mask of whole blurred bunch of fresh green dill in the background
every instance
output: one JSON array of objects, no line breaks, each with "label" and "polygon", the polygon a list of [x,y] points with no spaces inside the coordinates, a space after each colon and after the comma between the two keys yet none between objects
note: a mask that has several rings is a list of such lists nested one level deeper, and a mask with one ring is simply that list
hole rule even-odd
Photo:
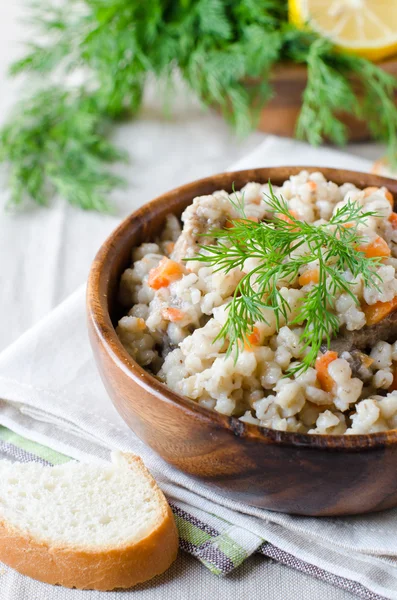
[{"label": "whole blurred bunch of fresh green dill in the background", "polygon": [[[30,197],[44,204],[60,193],[83,208],[106,209],[106,196],[119,180],[107,172],[101,179],[100,172],[109,154],[111,160],[122,154],[110,152],[109,122],[138,114],[148,80],[168,90],[170,104],[175,72],[203,106],[215,107],[245,134],[273,94],[273,66],[304,64],[308,84],[297,135],[311,144],[342,144],[340,114],[348,112],[367,122],[397,162],[396,80],[290,25],[286,1],[35,0],[27,20],[34,41],[10,74],[28,74],[29,90],[37,90],[37,79],[45,84],[18,104],[0,132],[0,162],[9,166],[13,203]],[[77,89],[57,83],[82,75]],[[81,135],[80,122],[87,127]],[[106,157],[98,148],[106,148]]]}]

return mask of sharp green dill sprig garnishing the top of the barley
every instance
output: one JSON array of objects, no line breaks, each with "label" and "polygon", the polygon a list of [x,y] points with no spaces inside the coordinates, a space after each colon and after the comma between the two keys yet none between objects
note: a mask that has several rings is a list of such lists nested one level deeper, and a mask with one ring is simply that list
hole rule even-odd
[{"label": "sharp green dill sprig garnishing the top of the barley", "polygon": [[[298,374],[313,365],[324,342],[339,330],[335,314],[335,297],[347,293],[358,304],[352,283],[345,278],[350,270],[353,280],[361,276],[365,286],[379,287],[376,266],[379,258],[368,258],[358,250],[362,233],[358,226],[377,213],[362,212],[355,202],[338,209],[328,223],[313,225],[296,219],[283,198],[278,198],[269,184],[266,203],[271,219],[256,223],[247,219],[242,203],[231,198],[241,216],[232,220],[232,227],[212,230],[207,235],[216,243],[201,245],[200,253],[192,259],[212,266],[215,271],[228,273],[243,270],[248,258],[258,265],[238,283],[228,305],[228,315],[217,339],[228,341],[228,354],[249,344],[248,337],[257,322],[267,323],[266,312],[271,309],[276,328],[281,322],[301,326],[300,343],[305,353],[302,361],[289,373]],[[346,227],[349,225],[349,227]],[[302,267],[317,261],[319,281],[299,301],[296,315],[290,319],[291,307],[281,293],[285,285],[295,285]]]}]

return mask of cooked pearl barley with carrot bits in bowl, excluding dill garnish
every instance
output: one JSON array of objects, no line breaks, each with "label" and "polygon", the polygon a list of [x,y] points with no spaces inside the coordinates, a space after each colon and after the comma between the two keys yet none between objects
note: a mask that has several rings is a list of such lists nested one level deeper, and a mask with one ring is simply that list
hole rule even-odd
[{"label": "cooked pearl barley with carrot bits in bowl, excluding dill garnish", "polygon": [[[385,188],[366,195],[353,184],[338,186],[326,181],[321,173],[302,171],[273,189],[298,218],[316,226],[327,225],[327,219],[338,208],[352,201],[363,210],[383,215],[358,226],[366,243],[381,237],[391,249],[391,257],[375,267],[379,289],[364,288],[362,275],[354,278],[346,269],[343,277],[357,303],[346,292],[330,293],[333,304],[328,309],[334,311],[339,326],[360,331],[366,324],[361,310],[364,303],[388,302],[397,296],[397,230],[388,221],[391,207]],[[272,216],[263,192],[269,192],[267,184],[250,182],[236,193],[236,198],[244,203],[246,215],[256,220]],[[279,330],[275,312],[262,307],[262,318],[252,324],[252,344],[246,348],[241,345],[237,360],[234,351],[226,355],[228,337],[225,339],[225,330],[221,330],[227,322],[230,302],[241,278],[258,267],[260,259],[248,258],[243,270],[235,267],[224,273],[184,258],[197,255],[202,233],[213,227],[222,228],[237,217],[228,194],[214,192],[195,198],[185,210],[183,230],[179,220],[171,215],[159,239],[134,248],[132,264],[123,273],[119,290],[120,303],[128,314],[120,319],[117,333],[127,352],[178,393],[246,423],[323,435],[397,428],[397,392],[383,396],[393,383],[397,342],[379,341],[373,345],[372,363],[368,364],[364,357],[366,366],[361,367],[354,362],[352,352],[340,352],[327,367],[335,382],[331,391],[326,373],[325,379],[318,377],[315,368],[296,377],[291,375],[309,351],[300,341],[305,323],[291,322],[298,315],[302,298],[313,287],[301,287],[299,276],[318,268],[318,259],[310,259],[293,281],[278,282],[279,292],[289,305],[287,319],[280,318]],[[292,254],[304,256],[309,252],[304,242]],[[148,283],[149,273],[163,256],[178,262],[181,276],[154,290]],[[330,260],[331,268],[335,261],[336,257]],[[255,287],[254,278],[251,282]],[[330,283],[328,276],[327,285]],[[354,374],[350,364],[354,365]]]}]

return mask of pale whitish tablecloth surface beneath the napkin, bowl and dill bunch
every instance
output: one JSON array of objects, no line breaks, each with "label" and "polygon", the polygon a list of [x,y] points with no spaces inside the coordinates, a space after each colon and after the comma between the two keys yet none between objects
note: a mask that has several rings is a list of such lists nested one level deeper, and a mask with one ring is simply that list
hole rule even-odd
[{"label": "pale whitish tablecloth surface beneath the napkin, bowl and dill bunch", "polygon": [[[21,83],[6,77],[7,65],[21,52],[21,42],[28,38],[18,19],[23,16],[22,0],[1,2],[0,6],[0,122],[17,99]],[[142,113],[135,122],[115,131],[114,139],[131,154],[131,163],[120,171],[128,178],[127,190],[114,194],[117,218],[120,218],[157,194],[186,181],[225,170],[229,165],[255,148],[264,135],[253,133],[238,141],[222,119],[203,112],[186,95],[178,98],[178,110],[165,119],[161,105],[148,93]],[[351,145],[348,150],[359,156],[378,158],[383,149],[376,144]],[[4,179],[2,180],[2,183]],[[7,199],[6,189],[0,193],[0,204]],[[50,209],[31,207],[22,214],[7,214],[0,208],[0,349],[15,340],[50,311],[58,302],[85,280],[90,259],[100,241],[112,229],[112,217],[87,214],[81,226],[80,244],[70,248],[68,219],[75,209],[55,202]],[[59,215],[62,215],[60,218]],[[97,240],[87,244],[84,227],[95,228]],[[73,240],[76,239],[75,231]],[[57,236],[56,256],[46,256],[46,244],[53,247]],[[68,269],[72,253],[81,256],[80,267]],[[42,261],[57,260],[59,278],[48,282]],[[26,578],[24,590],[2,589],[2,600],[33,599],[40,592]],[[122,593],[121,593],[122,595]],[[76,597],[72,593],[73,597]],[[72,597],[71,596],[71,597]],[[37,596],[38,597],[38,596]],[[237,572],[225,579],[216,578],[192,557],[180,553],[168,573],[136,589],[139,600],[189,600],[213,598],[230,600],[348,600],[348,592],[337,590],[293,569],[261,557],[254,557]],[[65,596],[66,598],[66,596]]]}]

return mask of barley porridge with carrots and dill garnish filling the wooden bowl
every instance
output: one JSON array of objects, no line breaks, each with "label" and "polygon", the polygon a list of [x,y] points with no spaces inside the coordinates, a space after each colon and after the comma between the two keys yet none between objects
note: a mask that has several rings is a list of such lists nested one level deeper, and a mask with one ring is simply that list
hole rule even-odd
[{"label": "barley porridge with carrots and dill garnish filling the wooden bowl", "polygon": [[121,277],[117,334],[142,367],[264,427],[397,428],[397,214],[386,188],[302,171],[281,187],[195,198],[182,224],[169,215]]}]

